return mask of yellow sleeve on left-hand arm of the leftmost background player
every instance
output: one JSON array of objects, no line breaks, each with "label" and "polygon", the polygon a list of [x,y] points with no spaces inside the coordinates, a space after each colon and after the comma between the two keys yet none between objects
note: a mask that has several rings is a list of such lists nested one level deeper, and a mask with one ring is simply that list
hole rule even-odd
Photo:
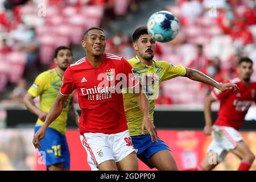
[{"label": "yellow sleeve on left-hand arm of the leftmost background player", "polygon": [[34,83],[28,89],[28,93],[30,93],[33,97],[38,97],[42,94],[44,90],[47,89],[47,81],[48,81],[47,72],[43,72],[38,77],[35,78]]}]

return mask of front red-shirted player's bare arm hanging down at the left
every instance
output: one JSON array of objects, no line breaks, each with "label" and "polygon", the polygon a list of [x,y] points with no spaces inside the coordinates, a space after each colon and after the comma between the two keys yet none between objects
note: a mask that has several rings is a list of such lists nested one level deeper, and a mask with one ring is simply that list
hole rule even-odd
[{"label": "front red-shirted player's bare arm hanging down at the left", "polygon": [[61,111],[63,110],[65,101],[67,100],[68,96],[63,96],[59,93],[59,95],[56,97],[55,101],[53,102],[51,109],[49,110],[49,113],[47,114],[46,121],[44,121],[44,124],[38,132],[34,135],[33,138],[33,144],[35,148],[40,148],[41,145],[39,141],[44,138],[44,135],[46,134],[46,129],[51,123],[59,117]]}]

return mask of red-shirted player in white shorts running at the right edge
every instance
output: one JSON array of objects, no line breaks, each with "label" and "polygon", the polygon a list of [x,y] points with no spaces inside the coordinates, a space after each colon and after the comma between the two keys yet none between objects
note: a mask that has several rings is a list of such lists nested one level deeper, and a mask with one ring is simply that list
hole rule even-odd
[{"label": "red-shirted player in white shorts running at the right edge", "polygon": [[[238,171],[247,171],[251,167],[255,156],[247,144],[243,142],[238,130],[242,126],[251,103],[256,101],[256,82],[250,80],[253,74],[253,61],[248,57],[241,57],[237,72],[239,78],[234,78],[231,81],[240,88],[237,93],[234,93],[233,90],[220,92],[220,90],[214,89],[205,100],[204,133],[207,135],[212,133],[213,141],[208,147],[208,155],[200,166],[187,170],[211,170],[224,160],[228,152],[232,152],[241,159]],[[220,100],[220,110],[218,111],[218,118],[212,126],[210,106],[216,100]]]}]

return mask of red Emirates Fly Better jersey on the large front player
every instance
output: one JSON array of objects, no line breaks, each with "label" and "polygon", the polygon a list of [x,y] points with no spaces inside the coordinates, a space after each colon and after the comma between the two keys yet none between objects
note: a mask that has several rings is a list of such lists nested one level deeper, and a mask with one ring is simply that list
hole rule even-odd
[{"label": "red Emirates Fly Better jersey on the large front player", "polygon": [[98,68],[86,57],[69,65],[60,93],[68,95],[77,89],[81,134],[115,134],[127,130],[122,88],[133,88],[138,83],[133,68],[123,57],[105,53]]}]

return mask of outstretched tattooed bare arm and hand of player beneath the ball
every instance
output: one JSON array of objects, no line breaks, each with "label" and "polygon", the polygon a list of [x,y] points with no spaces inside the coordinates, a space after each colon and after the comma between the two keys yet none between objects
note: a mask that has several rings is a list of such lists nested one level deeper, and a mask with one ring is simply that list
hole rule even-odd
[{"label": "outstretched tattooed bare arm and hand of player beneath the ball", "polygon": [[208,84],[214,86],[215,88],[221,90],[221,92],[225,92],[226,90],[234,89],[234,92],[237,92],[239,89],[236,84],[226,83],[222,84],[205,75],[204,73],[197,71],[196,69],[186,68],[185,77],[188,77],[191,80],[203,82],[204,84]]}]

